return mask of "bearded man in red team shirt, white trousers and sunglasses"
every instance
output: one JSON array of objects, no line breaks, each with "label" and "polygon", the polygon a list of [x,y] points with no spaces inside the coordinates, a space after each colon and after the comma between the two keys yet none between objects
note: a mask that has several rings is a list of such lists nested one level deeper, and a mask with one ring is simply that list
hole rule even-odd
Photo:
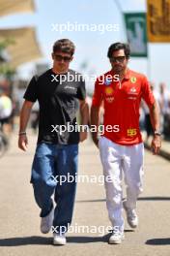
[{"label": "bearded man in red team shirt, white trousers and sunglasses", "polygon": [[[99,147],[105,177],[106,206],[113,225],[109,243],[121,243],[124,240],[123,207],[129,226],[136,228],[138,225],[135,208],[137,197],[142,192],[144,154],[139,130],[142,98],[150,109],[154,154],[158,153],[161,145],[156,100],[146,77],[128,69],[129,54],[127,44],[116,43],[108,48],[107,56],[112,69],[96,81],[91,109],[91,124],[99,127],[99,107],[103,102],[104,133],[100,139],[98,132],[92,136]],[[119,80],[114,80],[116,76]],[[124,202],[121,185],[123,172],[127,185],[127,199]]]}]

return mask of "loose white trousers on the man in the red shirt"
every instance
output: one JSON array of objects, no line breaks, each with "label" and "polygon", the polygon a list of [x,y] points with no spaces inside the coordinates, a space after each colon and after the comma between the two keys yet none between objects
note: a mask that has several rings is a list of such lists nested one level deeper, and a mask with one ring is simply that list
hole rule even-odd
[{"label": "loose white trousers on the man in the red shirt", "polygon": [[115,144],[105,137],[100,137],[99,153],[109,219],[113,227],[118,226],[121,231],[124,231],[123,172],[127,185],[127,207],[134,209],[137,197],[142,192],[144,146],[143,143]]}]

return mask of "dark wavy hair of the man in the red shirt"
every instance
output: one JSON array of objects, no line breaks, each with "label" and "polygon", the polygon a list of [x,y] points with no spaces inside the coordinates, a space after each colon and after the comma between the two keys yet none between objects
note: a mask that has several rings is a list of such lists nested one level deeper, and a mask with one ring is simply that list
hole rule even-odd
[{"label": "dark wavy hair of the man in the red shirt", "polygon": [[128,58],[129,58],[129,54],[130,54],[130,49],[129,49],[128,44],[123,44],[123,43],[115,43],[115,44],[112,44],[112,45],[108,48],[107,57],[108,57],[108,58],[111,58],[112,55],[113,55],[113,52],[116,51],[116,50],[119,50],[119,49],[124,49],[125,54],[126,54],[126,57],[127,57],[127,59],[128,59]]}]

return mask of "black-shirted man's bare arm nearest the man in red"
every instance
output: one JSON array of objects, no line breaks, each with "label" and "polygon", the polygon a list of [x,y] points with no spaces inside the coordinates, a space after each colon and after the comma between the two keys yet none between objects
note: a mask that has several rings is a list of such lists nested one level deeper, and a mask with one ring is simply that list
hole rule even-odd
[{"label": "black-shirted man's bare arm nearest the man in red", "polygon": [[[86,100],[79,100],[80,104],[80,117],[81,117],[81,125],[88,125],[89,123],[89,105]],[[87,131],[80,132],[80,142],[82,143],[87,139]]]}]

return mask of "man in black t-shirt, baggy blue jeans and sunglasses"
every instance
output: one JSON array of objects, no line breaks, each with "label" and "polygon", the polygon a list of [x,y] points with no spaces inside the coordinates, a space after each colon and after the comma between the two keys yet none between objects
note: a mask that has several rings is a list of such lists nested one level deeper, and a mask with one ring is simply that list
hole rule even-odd
[{"label": "man in black t-shirt, baggy blue jeans and sunglasses", "polygon": [[77,109],[82,125],[87,125],[89,119],[85,82],[80,74],[69,69],[73,53],[74,45],[70,40],[55,42],[53,68],[32,78],[20,113],[18,146],[26,150],[26,127],[31,109],[38,100],[39,136],[31,183],[41,208],[41,231],[45,234],[52,228],[54,244],[66,244],[65,233],[71,224],[74,204],[78,143],[87,138],[87,131],[77,129]]}]

